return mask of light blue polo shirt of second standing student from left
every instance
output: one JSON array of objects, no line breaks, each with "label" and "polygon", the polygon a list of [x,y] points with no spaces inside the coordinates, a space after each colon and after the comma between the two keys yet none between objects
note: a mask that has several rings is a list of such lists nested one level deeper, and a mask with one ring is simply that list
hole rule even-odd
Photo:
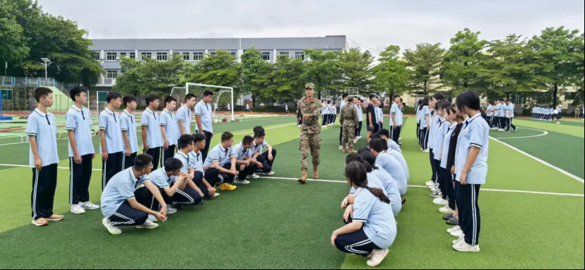
[{"label": "light blue polo shirt of second standing student from left", "polygon": [[[81,110],[75,105],[69,108],[65,115],[65,129],[73,130],[75,142],[77,145],[77,152],[79,155],[89,155],[95,153],[93,149],[93,142],[91,141],[91,112],[85,107]],[[69,145],[69,157],[73,157],[73,149],[71,143]]]}]

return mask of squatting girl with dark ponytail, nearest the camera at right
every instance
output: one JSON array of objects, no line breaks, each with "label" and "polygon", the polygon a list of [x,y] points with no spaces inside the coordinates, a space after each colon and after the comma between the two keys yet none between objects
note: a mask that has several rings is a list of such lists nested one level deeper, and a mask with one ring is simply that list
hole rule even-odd
[{"label": "squatting girl with dark ponytail, nearest the camera at right", "polygon": [[396,221],[390,199],[382,189],[368,187],[367,172],[362,163],[349,163],[345,167],[345,176],[355,189],[355,199],[345,209],[346,225],[331,235],[331,245],[341,252],[370,257],[367,265],[378,266],[396,239]]}]

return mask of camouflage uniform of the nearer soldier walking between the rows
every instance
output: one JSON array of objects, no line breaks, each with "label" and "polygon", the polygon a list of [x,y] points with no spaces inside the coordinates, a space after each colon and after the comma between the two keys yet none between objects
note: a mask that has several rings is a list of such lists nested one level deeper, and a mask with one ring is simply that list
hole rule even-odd
[{"label": "camouflage uniform of the nearer soldier walking between the rows", "polygon": [[321,115],[321,102],[317,98],[307,100],[303,97],[298,102],[300,115],[311,115],[309,118],[302,118],[300,132],[300,151],[301,151],[301,170],[308,170],[307,160],[309,158],[309,149],[313,157],[313,167],[319,165],[319,149],[321,148],[321,125],[319,116]]}]

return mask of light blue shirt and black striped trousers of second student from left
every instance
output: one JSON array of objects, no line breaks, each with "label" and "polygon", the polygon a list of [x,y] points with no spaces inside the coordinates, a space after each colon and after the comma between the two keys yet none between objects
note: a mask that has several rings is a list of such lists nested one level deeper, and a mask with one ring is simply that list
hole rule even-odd
[{"label": "light blue shirt and black striped trousers of second student from left", "polygon": [[81,156],[81,164],[75,163],[73,148],[69,144],[69,204],[79,204],[90,201],[89,184],[93,163],[93,142],[91,141],[91,113],[85,108],[71,106],[65,115],[65,129],[72,130],[77,146],[77,153]]}]

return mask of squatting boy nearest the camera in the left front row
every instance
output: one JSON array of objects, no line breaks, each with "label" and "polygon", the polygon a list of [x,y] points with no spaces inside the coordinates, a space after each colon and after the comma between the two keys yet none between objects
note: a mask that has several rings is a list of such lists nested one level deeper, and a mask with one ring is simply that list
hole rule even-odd
[{"label": "squatting boy nearest the camera in the left front row", "polygon": [[[102,225],[112,235],[122,233],[120,226],[138,229],[158,228],[156,221],[167,220],[167,204],[158,187],[146,175],[153,169],[153,157],[138,155],[134,167],[114,175],[102,192]],[[140,187],[143,185],[143,187]],[[158,211],[160,207],[160,211]]]}]

